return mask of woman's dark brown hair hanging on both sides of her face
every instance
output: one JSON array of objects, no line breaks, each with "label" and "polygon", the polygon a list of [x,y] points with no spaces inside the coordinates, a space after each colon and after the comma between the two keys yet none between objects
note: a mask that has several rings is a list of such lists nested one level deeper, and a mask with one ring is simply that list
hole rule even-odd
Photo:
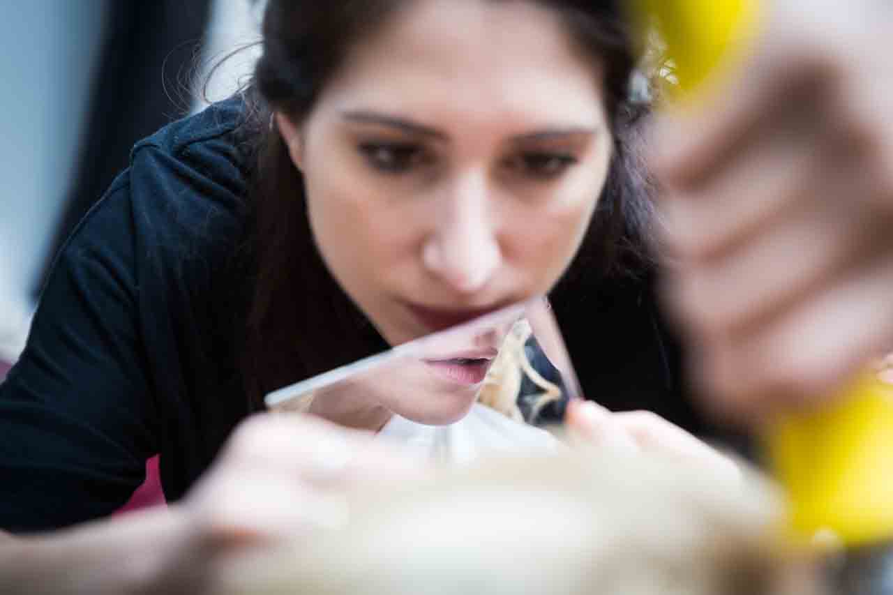
[{"label": "woman's dark brown hair hanging on both sides of her face", "polygon": [[[242,367],[255,406],[269,390],[387,347],[322,263],[307,220],[301,173],[271,126],[271,113],[303,119],[346,52],[407,1],[270,0],[267,5],[263,56],[246,93],[247,130],[255,138],[250,196],[255,283]],[[628,99],[635,57],[619,0],[530,1],[557,11],[580,48],[605,64],[615,139],[603,195],[580,252],[559,283],[560,293],[583,279],[635,275],[647,268],[650,206],[633,134],[640,110]]]}]

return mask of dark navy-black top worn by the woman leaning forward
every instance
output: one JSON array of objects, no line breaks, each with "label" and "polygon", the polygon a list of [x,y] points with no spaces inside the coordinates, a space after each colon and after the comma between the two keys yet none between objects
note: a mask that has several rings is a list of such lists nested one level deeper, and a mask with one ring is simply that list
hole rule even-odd
[{"label": "dark navy-black top worn by the woman leaning forward", "polygon": [[[241,110],[232,99],[138,143],[63,246],[0,384],[5,530],[112,513],[155,454],[179,499],[248,415],[233,340],[245,313],[225,273],[250,220]],[[702,432],[649,288],[580,290],[555,312],[588,398]]]}]

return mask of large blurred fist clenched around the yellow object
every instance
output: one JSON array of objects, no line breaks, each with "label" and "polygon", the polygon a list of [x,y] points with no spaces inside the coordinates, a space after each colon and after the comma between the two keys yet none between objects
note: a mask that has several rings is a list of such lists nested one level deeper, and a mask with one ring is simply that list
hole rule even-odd
[{"label": "large blurred fist clenched around the yellow object", "polygon": [[698,389],[747,421],[893,346],[893,3],[764,4],[743,68],[655,127],[665,296]]}]

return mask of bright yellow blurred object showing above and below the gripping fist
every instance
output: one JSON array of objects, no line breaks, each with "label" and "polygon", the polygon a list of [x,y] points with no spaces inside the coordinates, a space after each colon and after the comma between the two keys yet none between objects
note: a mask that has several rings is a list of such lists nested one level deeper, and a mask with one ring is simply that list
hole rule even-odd
[{"label": "bright yellow blurred object showing above and below the gripping fist", "polygon": [[[656,27],[688,102],[717,71],[734,66],[759,28],[759,4],[636,0],[633,5],[645,35]],[[805,542],[832,532],[847,547],[893,541],[893,387],[866,374],[830,403],[769,432],[769,462],[788,490],[792,529]]]}]

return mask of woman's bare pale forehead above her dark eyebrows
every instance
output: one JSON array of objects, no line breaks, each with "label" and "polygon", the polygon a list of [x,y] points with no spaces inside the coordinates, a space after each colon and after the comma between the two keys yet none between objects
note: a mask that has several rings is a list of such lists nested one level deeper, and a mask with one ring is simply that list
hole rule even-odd
[{"label": "woman's bare pale forehead above her dark eyebrows", "polygon": [[[600,120],[600,64],[578,51],[553,10],[524,1],[407,3],[357,43],[323,93],[339,110],[426,113],[444,104],[465,116],[576,113]],[[467,113],[471,111],[472,113]],[[584,115],[585,114],[585,115]]]}]

